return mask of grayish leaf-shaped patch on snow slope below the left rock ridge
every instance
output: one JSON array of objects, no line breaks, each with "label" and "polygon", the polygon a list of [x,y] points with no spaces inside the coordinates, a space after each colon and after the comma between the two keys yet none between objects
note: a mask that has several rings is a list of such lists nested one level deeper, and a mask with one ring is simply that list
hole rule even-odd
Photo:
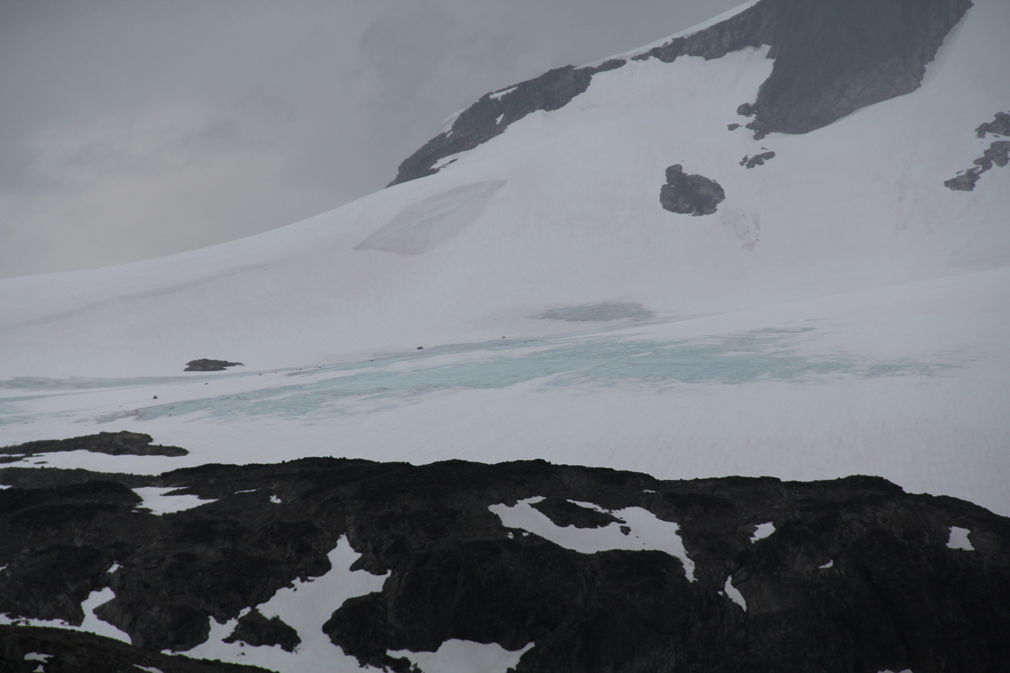
[{"label": "grayish leaf-shaped patch on snow slope below the left rock ridge", "polygon": [[356,250],[415,255],[441,245],[473,224],[505,180],[485,180],[442,192],[408,206]]}]

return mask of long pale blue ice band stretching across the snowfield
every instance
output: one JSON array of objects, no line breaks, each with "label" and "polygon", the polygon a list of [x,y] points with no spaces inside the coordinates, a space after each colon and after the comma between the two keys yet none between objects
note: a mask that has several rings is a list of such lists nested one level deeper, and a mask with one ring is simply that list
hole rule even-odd
[{"label": "long pale blue ice band stretching across the snowfield", "polygon": [[[637,390],[698,384],[793,384],[842,377],[934,375],[954,366],[911,359],[871,361],[852,355],[815,356],[804,348],[814,328],[765,329],[736,335],[662,340],[614,334],[446,346],[328,367],[293,371],[280,385],[117,413],[100,419],[149,420],[202,413],[214,417],[358,414],[397,407],[453,389],[539,389],[570,386]],[[2,402],[2,400],[0,400]]]}]

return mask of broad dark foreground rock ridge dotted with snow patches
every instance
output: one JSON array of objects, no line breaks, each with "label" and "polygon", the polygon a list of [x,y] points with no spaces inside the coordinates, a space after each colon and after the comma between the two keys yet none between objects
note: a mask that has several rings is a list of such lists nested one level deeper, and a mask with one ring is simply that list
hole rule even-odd
[{"label": "broad dark foreground rock ridge dotted with snow patches", "polygon": [[[211,615],[223,623],[324,574],[346,535],[362,554],[354,568],[390,575],[320,626],[362,663],[395,671],[410,664],[389,651],[449,639],[534,643],[517,673],[995,673],[1010,661],[1010,521],[877,477],[664,481],[543,461],[313,458],[158,477],[6,468],[0,483],[14,484],[0,489],[0,612],[80,623],[80,600],[108,585],[116,597],[98,612],[153,653],[187,650]],[[135,509],[137,485],[217,500],[157,517]],[[634,508],[676,522],[694,581],[665,552],[580,553],[489,510],[534,496],[579,534],[630,522]],[[770,522],[774,533],[751,541]],[[950,546],[951,527],[969,531],[967,545]],[[246,624],[235,638],[250,645],[288,633]]]}]

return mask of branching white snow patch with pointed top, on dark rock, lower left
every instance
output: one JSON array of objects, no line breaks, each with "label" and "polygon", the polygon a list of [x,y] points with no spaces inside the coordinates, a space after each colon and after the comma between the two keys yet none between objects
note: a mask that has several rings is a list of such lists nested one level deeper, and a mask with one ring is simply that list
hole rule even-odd
[{"label": "branching white snow patch with pointed top, on dark rock, lower left", "polygon": [[[382,589],[387,575],[373,575],[365,570],[349,570],[350,564],[361,554],[355,552],[346,536],[340,538],[329,553],[332,569],[321,577],[307,582],[295,580],[290,589],[280,589],[265,603],[258,605],[267,619],[280,616],[285,624],[298,632],[301,645],[294,652],[285,652],[280,645],[250,647],[223,643],[234,631],[238,620],[226,624],[210,621],[210,637],[206,643],[186,652],[188,657],[219,659],[236,664],[256,664],[279,673],[355,673],[362,671],[358,660],[343,654],[322,632],[322,625],[333,611],[351,596],[360,596]],[[377,670],[367,667],[367,670]]]}]

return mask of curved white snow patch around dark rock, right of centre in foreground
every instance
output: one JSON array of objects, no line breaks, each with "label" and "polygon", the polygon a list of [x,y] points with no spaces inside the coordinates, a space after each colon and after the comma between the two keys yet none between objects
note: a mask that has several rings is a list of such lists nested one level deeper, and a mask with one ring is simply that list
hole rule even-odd
[{"label": "curved white snow patch around dark rock, right of centre in foreground", "polygon": [[[492,504],[489,510],[502,520],[506,528],[517,528],[538,535],[566,549],[573,549],[582,554],[595,554],[610,549],[655,549],[677,557],[684,564],[684,571],[692,582],[694,576],[694,561],[688,558],[684,543],[677,531],[679,526],[673,522],[656,519],[655,515],[641,508],[627,508],[611,512],[623,524],[611,522],[601,528],[576,528],[575,526],[560,527],[554,525],[539,510],[530,507],[542,497],[529,497],[519,500],[513,507]],[[577,502],[586,507],[588,502]],[[597,506],[593,506],[597,507]],[[621,533],[621,527],[631,529],[628,535]]]}]

